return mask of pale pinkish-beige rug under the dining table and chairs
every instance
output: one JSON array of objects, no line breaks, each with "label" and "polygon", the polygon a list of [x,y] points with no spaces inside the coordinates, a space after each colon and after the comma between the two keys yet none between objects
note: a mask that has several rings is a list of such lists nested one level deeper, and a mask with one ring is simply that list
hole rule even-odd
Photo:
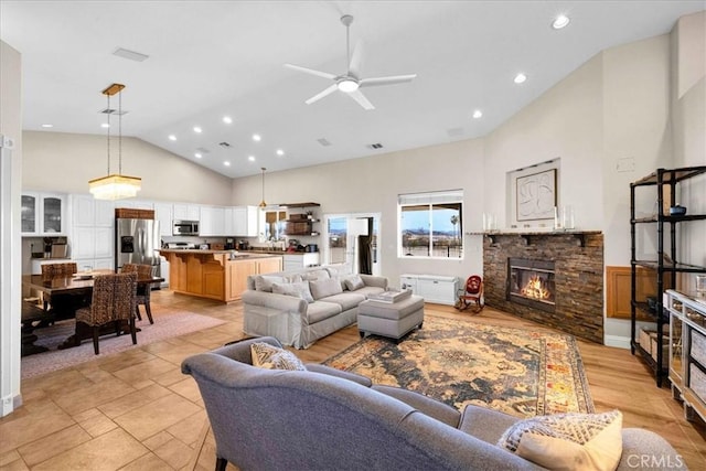
[{"label": "pale pinkish-beige rug under the dining table and chairs", "polygon": [[43,345],[50,350],[43,353],[22,357],[22,378],[30,378],[53,371],[75,366],[92,360],[103,358],[118,352],[124,352],[132,347],[148,345],[170,338],[184,335],[203,329],[220,325],[225,321],[207,315],[196,314],[184,310],[169,310],[162,307],[152,307],[152,318],[154,323],[150,324],[147,315],[142,312],[142,320],[137,321],[140,332],[137,333],[137,345],[132,344],[129,334],[115,336],[114,334],[100,338],[100,354],[95,355],[93,341],[87,339],[79,346],[66,350],[56,347],[68,338],[75,330],[75,320],[56,322],[49,328],[34,330],[38,335],[35,345]]}]

